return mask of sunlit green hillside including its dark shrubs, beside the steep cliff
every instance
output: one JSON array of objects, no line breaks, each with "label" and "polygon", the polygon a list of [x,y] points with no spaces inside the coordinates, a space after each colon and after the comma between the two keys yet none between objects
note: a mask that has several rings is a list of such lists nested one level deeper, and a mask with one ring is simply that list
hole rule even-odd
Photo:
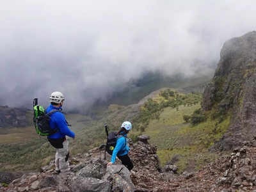
[{"label": "sunlit green hillside including its dark shrubs, beside the steep cliff", "polygon": [[[157,146],[161,166],[171,162],[179,167],[179,173],[198,170],[218,157],[216,152],[209,152],[209,148],[227,131],[230,119],[220,122],[219,119],[201,115],[200,93],[174,91],[174,95],[166,99],[166,91],[170,92],[165,90],[154,99],[148,99],[141,107],[142,114],[136,117],[142,125],[136,123],[136,118],[134,123],[140,131],[150,136],[150,143]],[[150,112],[150,116],[143,108]],[[184,118],[186,116],[188,120]]]}]

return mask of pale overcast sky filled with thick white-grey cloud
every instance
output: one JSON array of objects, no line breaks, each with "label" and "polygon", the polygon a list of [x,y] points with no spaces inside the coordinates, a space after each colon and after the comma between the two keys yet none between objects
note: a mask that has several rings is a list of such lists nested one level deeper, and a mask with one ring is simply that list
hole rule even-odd
[{"label": "pale overcast sky filled with thick white-grey cloud", "polygon": [[45,103],[58,90],[71,108],[145,70],[191,76],[193,61],[217,62],[226,40],[255,30],[255,8],[255,0],[2,0],[0,104]]}]

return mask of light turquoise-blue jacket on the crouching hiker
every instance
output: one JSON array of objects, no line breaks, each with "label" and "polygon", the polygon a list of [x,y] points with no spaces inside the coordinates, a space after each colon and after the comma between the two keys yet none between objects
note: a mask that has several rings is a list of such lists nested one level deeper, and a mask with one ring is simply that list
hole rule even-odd
[{"label": "light turquoise-blue jacket on the crouching hiker", "polygon": [[[126,137],[127,134],[124,134],[124,136]],[[126,138],[125,137],[120,137],[116,140],[116,147],[113,150],[113,154],[111,157],[111,163],[115,163],[116,161],[116,156],[125,156],[126,154],[128,154],[130,148],[127,145],[127,141],[125,142]],[[126,143],[126,145],[125,145]]]}]

